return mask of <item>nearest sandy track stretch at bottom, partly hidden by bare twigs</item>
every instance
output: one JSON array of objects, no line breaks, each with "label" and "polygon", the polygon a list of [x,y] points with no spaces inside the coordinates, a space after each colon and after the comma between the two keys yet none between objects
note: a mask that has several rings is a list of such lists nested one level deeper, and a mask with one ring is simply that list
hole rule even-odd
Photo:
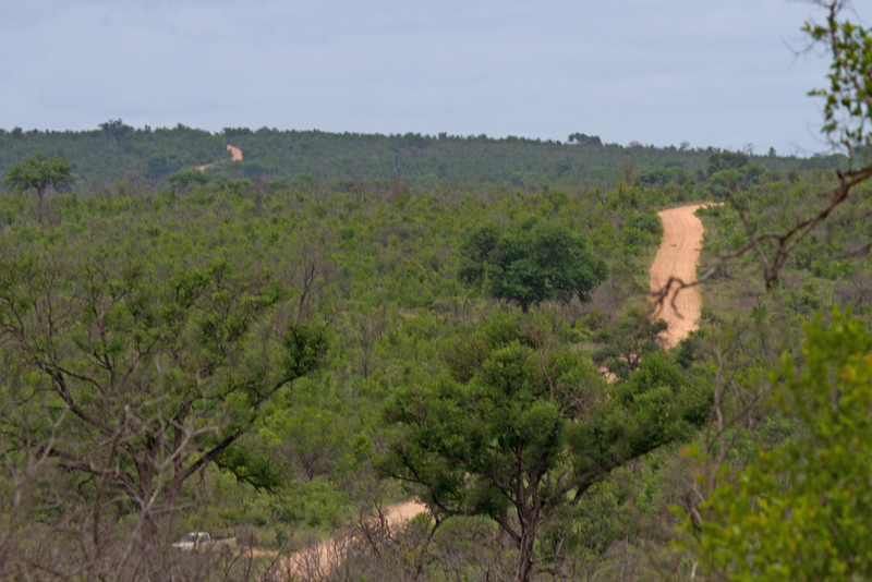
[{"label": "nearest sandy track stretch at bottom, partly hidden by bare twigs", "polygon": [[[415,516],[427,510],[427,506],[417,501],[407,501],[391,506],[385,510],[384,519],[391,531],[401,530]],[[278,563],[280,577],[293,577],[295,580],[311,580],[329,573],[338,566],[343,546],[349,542],[347,535],[338,535],[325,539],[320,544],[298,551]]]}]

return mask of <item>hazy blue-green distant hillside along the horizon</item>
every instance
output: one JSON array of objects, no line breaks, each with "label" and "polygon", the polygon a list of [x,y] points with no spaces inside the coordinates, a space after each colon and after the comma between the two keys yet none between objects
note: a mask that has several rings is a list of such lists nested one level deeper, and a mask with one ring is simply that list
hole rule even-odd
[{"label": "hazy blue-green distant hillside along the horizon", "polygon": [[[602,144],[596,136],[572,134],[572,143],[480,136],[408,133],[379,135],[225,129],[221,133],[186,128],[134,129],[121,120],[87,132],[0,130],[0,172],[16,160],[41,151],[69,157],[77,190],[99,190],[119,180],[165,187],[177,171],[210,167],[214,177],[323,183],[332,187],[401,179],[416,189],[440,181],[538,189],[545,184],[578,186],[639,178],[647,183],[702,181],[712,173],[717,148],[656,148]],[[230,162],[226,146],[242,149],[244,160]],[[773,153],[774,154],[774,153]],[[840,156],[814,158],[751,155],[748,160],[772,175],[791,170],[831,169]]]}]

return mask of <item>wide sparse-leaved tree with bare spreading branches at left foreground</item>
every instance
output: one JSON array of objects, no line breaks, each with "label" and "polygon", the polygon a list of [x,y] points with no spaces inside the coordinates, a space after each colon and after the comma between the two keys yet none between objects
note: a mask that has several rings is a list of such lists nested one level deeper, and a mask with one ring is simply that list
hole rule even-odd
[{"label": "wide sparse-leaved tree with bare spreading branches at left foreground", "polygon": [[0,259],[0,387],[14,404],[0,426],[5,446],[87,477],[97,499],[128,499],[154,543],[182,485],[210,463],[276,485],[239,444],[318,365],[324,329],[269,317],[287,291],[268,271],[92,252]]}]

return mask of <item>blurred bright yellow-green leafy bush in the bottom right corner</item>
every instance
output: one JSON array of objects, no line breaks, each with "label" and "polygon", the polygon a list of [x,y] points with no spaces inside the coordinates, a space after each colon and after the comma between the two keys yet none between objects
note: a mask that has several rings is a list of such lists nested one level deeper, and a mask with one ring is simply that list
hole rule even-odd
[{"label": "blurred bright yellow-green leafy bush in the bottom right corner", "polygon": [[785,357],[776,402],[801,431],[720,485],[685,529],[712,580],[872,579],[872,335],[835,314]]}]

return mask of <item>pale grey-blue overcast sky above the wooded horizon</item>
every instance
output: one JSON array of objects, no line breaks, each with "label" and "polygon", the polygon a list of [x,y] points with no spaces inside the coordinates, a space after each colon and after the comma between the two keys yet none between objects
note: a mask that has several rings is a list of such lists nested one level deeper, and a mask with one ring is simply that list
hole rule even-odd
[{"label": "pale grey-blue overcast sky above the wooded horizon", "polygon": [[[869,25],[872,0],[855,0]],[[0,0],[0,128],[824,150],[788,0]],[[858,19],[859,16],[859,19]]]}]

